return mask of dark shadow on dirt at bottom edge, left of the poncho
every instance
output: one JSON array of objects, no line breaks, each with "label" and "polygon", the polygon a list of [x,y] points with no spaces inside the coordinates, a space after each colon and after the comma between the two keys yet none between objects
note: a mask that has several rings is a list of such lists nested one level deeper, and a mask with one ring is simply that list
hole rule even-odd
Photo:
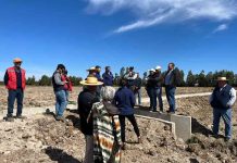
[{"label": "dark shadow on dirt at bottom edge, left of the poncho", "polygon": [[77,159],[68,155],[66,152],[58,148],[48,147],[45,149],[45,152],[52,161],[58,161],[58,163],[82,163]]}]

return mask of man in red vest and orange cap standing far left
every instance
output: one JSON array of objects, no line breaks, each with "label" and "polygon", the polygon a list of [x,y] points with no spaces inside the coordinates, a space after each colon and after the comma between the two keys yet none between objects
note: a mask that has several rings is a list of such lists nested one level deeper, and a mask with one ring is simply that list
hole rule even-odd
[{"label": "man in red vest and orange cap standing far left", "polygon": [[14,59],[13,63],[14,66],[9,67],[4,75],[4,85],[9,89],[8,114],[7,114],[7,121],[9,122],[14,121],[12,114],[13,114],[15,99],[17,100],[16,118],[23,118],[22,109],[23,109],[24,89],[26,86],[26,77],[25,77],[26,72],[25,70],[21,68],[22,60]]}]

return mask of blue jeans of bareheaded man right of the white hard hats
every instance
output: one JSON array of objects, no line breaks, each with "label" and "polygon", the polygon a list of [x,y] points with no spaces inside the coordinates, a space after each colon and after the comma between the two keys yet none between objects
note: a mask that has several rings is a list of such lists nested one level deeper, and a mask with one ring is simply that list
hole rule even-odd
[{"label": "blue jeans of bareheaded man right of the white hard hats", "polygon": [[170,105],[170,112],[175,112],[175,87],[165,86],[165,93]]}]

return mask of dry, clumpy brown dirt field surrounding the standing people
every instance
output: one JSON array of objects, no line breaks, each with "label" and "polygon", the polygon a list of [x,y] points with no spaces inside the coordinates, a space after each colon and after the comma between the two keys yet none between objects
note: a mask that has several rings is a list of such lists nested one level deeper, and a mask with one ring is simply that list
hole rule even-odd
[{"label": "dry, clumpy brown dirt field surrounding the standing people", "polygon": [[[178,88],[177,93],[209,92],[212,88]],[[79,88],[71,95],[76,101]],[[7,91],[0,88],[1,109],[7,108]],[[144,91],[144,96],[146,96]],[[50,87],[28,87],[25,106],[47,109],[54,104]],[[146,104],[148,105],[148,104]],[[175,140],[170,127],[157,121],[137,118],[142,143],[136,143],[133,127],[127,122],[127,148],[122,152],[122,163],[160,162],[237,162],[237,104],[233,113],[233,136],[230,142],[211,137],[212,109],[208,97],[177,99],[177,114],[192,117],[192,138],[184,142]],[[164,100],[164,106],[167,103]],[[27,109],[25,109],[27,110]],[[26,112],[26,111],[25,111]],[[67,123],[55,122],[52,113],[36,114],[26,120],[0,122],[0,163],[79,163],[83,162],[85,140],[79,130],[78,115],[67,110]],[[221,124],[221,135],[224,131]]]}]

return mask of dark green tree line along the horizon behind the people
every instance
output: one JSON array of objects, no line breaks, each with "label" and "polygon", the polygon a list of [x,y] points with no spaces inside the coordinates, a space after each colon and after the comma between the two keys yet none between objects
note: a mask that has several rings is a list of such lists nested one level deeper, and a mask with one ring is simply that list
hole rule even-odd
[{"label": "dark green tree line along the horizon behind the people", "polygon": [[[114,74],[114,85],[117,86],[121,79],[121,76],[124,75],[124,67],[121,68],[121,73]],[[187,76],[185,77],[185,73],[183,70],[178,70],[180,74],[180,87],[214,87],[216,85],[216,78],[219,76],[225,76],[228,79],[228,84],[232,86],[237,87],[237,74],[235,74],[233,71],[215,71],[215,72],[209,72],[205,73],[204,71],[201,71],[198,74],[192,73],[191,71],[188,72]],[[165,73],[165,72],[164,72]],[[163,73],[163,74],[164,74]],[[144,73],[144,85],[146,83],[146,77],[148,76],[148,73]],[[73,86],[79,86],[79,82],[83,80],[82,77],[76,76],[70,76],[71,82],[73,83]],[[52,77],[42,75],[40,79],[36,79],[35,76],[28,77],[26,79],[26,84],[30,86],[52,86]],[[3,82],[0,83],[0,85],[3,85]]]}]

